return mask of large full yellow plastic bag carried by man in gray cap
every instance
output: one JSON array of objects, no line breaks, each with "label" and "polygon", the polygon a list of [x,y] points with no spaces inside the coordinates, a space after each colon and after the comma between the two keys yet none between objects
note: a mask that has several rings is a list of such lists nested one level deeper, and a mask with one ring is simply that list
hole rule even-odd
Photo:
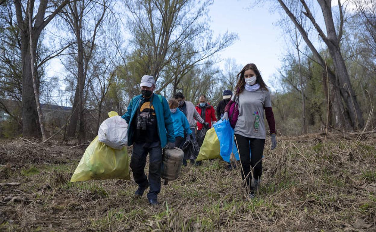
[{"label": "large full yellow plastic bag carried by man in gray cap", "polygon": [[[109,117],[118,115],[111,111]],[[130,180],[127,147],[113,149],[98,140],[90,143],[74,171],[71,182],[85,180],[124,179]]]}]

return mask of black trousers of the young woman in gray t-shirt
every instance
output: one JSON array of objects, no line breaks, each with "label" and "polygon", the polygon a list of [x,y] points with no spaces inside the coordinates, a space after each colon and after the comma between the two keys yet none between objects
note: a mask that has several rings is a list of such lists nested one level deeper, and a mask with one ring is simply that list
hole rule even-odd
[{"label": "black trousers of the young woman in gray t-shirt", "polygon": [[[235,134],[236,142],[238,145],[240,162],[242,169],[241,177],[244,181],[244,185],[247,186],[247,190],[253,190],[252,187],[252,173],[253,177],[259,179],[262,174],[262,153],[264,152],[264,139],[247,138],[242,135]],[[249,153],[249,151],[251,153]],[[251,159],[252,156],[252,159]]]}]

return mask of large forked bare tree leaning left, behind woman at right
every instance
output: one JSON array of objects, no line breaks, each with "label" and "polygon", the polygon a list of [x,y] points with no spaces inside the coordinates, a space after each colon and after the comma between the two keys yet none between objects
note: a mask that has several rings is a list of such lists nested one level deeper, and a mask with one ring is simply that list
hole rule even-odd
[{"label": "large forked bare tree leaning left, behind woman at right", "polygon": [[[297,29],[299,30],[300,34],[302,35],[302,38],[308,45],[309,49],[311,49],[313,53],[313,57],[315,61],[321,65],[321,67],[327,69],[328,77],[331,83],[334,85],[335,94],[334,96],[334,102],[335,104],[340,104],[340,106],[334,108],[335,114],[339,116],[339,113],[343,109],[344,117],[340,117],[341,120],[349,120],[349,122],[344,122],[341,125],[338,125],[340,127],[343,127],[343,125],[350,125],[346,126],[343,129],[358,129],[364,126],[364,120],[362,116],[362,112],[360,109],[360,106],[358,104],[358,101],[356,100],[355,92],[352,89],[352,85],[350,83],[349,75],[347,73],[347,68],[344,63],[343,57],[341,55],[340,45],[339,45],[339,39],[342,35],[342,26],[343,26],[343,14],[342,14],[342,6],[339,2],[340,7],[340,14],[341,14],[341,22],[340,22],[340,30],[339,35],[337,36],[335,32],[335,26],[334,21],[332,17],[332,9],[331,9],[331,1],[327,0],[317,0],[321,7],[321,11],[323,13],[325,26],[327,30],[327,36],[324,34],[324,32],[321,30],[319,24],[315,21],[314,16],[312,15],[311,11],[308,8],[308,5],[306,4],[305,0],[300,0],[302,3],[305,12],[303,14],[309,18],[309,20],[314,25],[315,29],[317,30],[319,36],[325,44],[327,45],[327,48],[329,50],[329,53],[334,61],[334,68],[335,68],[335,75],[332,73],[332,71],[326,66],[326,63],[324,62],[323,58],[321,57],[320,53],[317,52],[314,45],[308,38],[308,34],[303,28],[302,24],[300,24],[297,21],[297,18],[295,15],[288,9],[288,7],[285,5],[284,1],[278,0],[279,4],[282,6],[286,14],[290,17],[291,21],[295,24]],[[337,94],[337,89],[340,91],[340,95]],[[344,102],[346,103],[347,107],[344,107],[342,99],[335,99],[337,97],[341,97]],[[334,103],[333,102],[333,103]],[[346,115],[349,115],[349,117],[346,117]],[[336,117],[336,121],[339,118]]]}]

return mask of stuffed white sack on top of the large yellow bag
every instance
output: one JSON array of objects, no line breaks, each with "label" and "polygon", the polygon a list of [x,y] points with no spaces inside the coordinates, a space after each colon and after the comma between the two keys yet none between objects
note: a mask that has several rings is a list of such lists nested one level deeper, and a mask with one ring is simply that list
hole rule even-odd
[{"label": "stuffed white sack on top of the large yellow bag", "polygon": [[128,124],[121,116],[107,118],[99,127],[98,140],[120,150],[128,143]]}]

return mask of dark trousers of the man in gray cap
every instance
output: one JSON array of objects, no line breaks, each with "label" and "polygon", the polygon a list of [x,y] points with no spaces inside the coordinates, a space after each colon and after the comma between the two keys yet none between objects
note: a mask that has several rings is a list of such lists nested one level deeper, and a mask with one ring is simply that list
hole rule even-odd
[{"label": "dark trousers of the man in gray cap", "polygon": [[161,191],[161,167],[162,167],[162,147],[161,142],[153,143],[133,143],[132,158],[130,168],[132,168],[133,178],[139,187],[147,185],[148,180],[145,175],[146,156],[149,153],[149,186],[150,190],[147,198],[157,199]]}]

